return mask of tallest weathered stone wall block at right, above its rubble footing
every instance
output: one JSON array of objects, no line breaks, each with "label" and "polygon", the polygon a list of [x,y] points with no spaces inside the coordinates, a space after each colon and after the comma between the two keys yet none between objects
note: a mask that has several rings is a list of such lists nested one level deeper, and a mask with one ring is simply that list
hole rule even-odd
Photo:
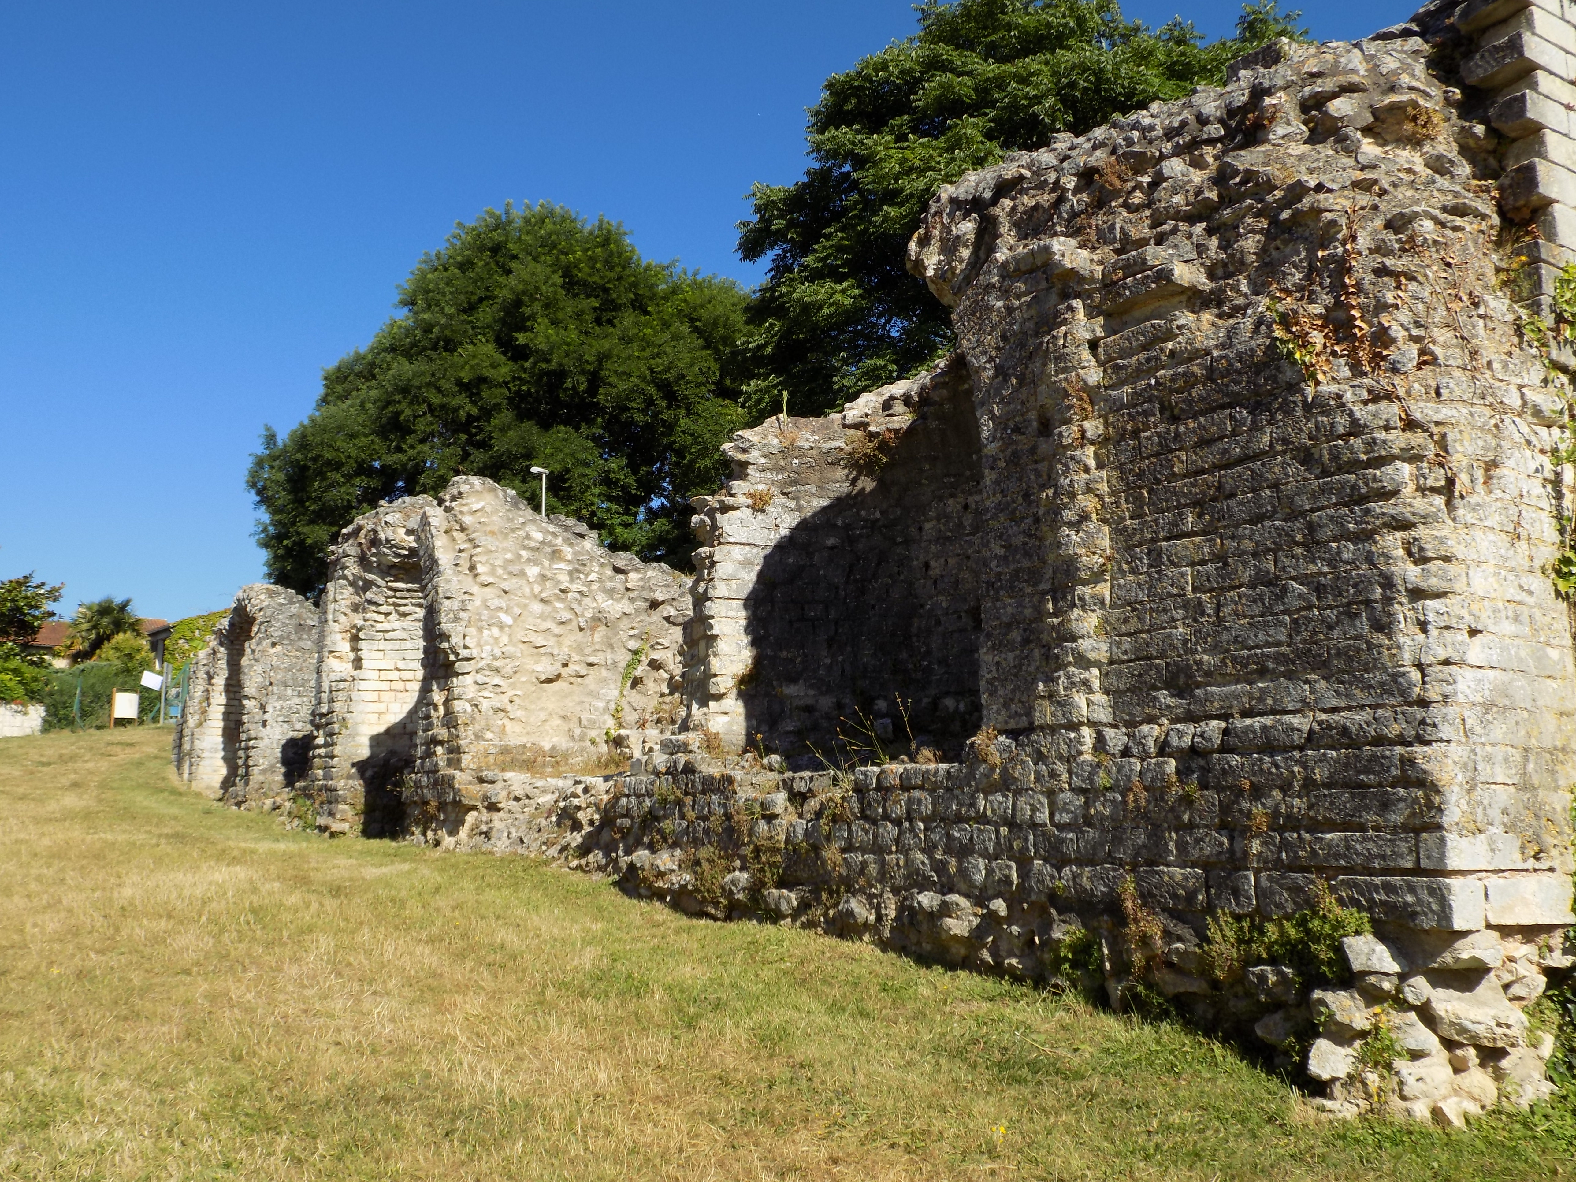
[{"label": "tallest weathered stone wall block at right, above its rubble footing", "polygon": [[911,247],[985,437],[985,722],[1173,905],[1570,919],[1563,402],[1428,61],[1278,46],[942,189]]}]

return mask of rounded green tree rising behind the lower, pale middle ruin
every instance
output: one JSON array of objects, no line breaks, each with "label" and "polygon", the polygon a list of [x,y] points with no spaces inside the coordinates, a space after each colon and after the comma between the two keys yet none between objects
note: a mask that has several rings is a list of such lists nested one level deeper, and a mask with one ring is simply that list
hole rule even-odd
[{"label": "rounded green tree rising behind the lower, pale middle ruin", "polygon": [[247,487],[268,577],[315,596],[337,533],[460,473],[648,559],[689,561],[687,500],[742,426],[728,367],[744,292],[645,262],[621,225],[541,203],[487,210],[422,257],[403,314],[328,369],[312,414],[266,429]]}]

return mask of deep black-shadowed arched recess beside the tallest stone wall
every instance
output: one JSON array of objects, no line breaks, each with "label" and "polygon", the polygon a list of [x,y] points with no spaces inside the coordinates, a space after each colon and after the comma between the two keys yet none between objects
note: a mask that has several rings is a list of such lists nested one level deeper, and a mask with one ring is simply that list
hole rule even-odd
[{"label": "deep black-shadowed arched recess beside the tallest stone wall", "polygon": [[979,424],[960,366],[879,471],[766,553],[744,604],[747,745],[799,768],[868,761],[875,749],[961,753],[980,725],[980,500]]}]

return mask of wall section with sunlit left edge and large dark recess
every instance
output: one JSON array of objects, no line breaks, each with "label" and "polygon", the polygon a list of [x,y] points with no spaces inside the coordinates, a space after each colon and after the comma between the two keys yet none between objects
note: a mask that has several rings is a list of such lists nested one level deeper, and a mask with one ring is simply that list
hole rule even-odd
[{"label": "wall section with sunlit left edge and large dark recess", "polygon": [[960,750],[979,727],[980,635],[965,367],[771,419],[723,451],[733,481],[695,501],[689,728],[816,766],[810,749],[846,749],[838,734]]}]

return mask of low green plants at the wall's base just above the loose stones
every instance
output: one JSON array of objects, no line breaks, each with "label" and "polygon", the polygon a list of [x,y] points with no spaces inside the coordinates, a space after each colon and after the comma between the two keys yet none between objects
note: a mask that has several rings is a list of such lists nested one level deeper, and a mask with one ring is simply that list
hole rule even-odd
[{"label": "low green plants at the wall's base just above the loose stones", "polygon": [[1341,939],[1370,931],[1368,916],[1343,908],[1329,886],[1316,883],[1313,906],[1307,911],[1277,919],[1210,916],[1204,965],[1221,983],[1236,980],[1253,965],[1286,965],[1305,983],[1344,985],[1351,969],[1341,955]]}]

